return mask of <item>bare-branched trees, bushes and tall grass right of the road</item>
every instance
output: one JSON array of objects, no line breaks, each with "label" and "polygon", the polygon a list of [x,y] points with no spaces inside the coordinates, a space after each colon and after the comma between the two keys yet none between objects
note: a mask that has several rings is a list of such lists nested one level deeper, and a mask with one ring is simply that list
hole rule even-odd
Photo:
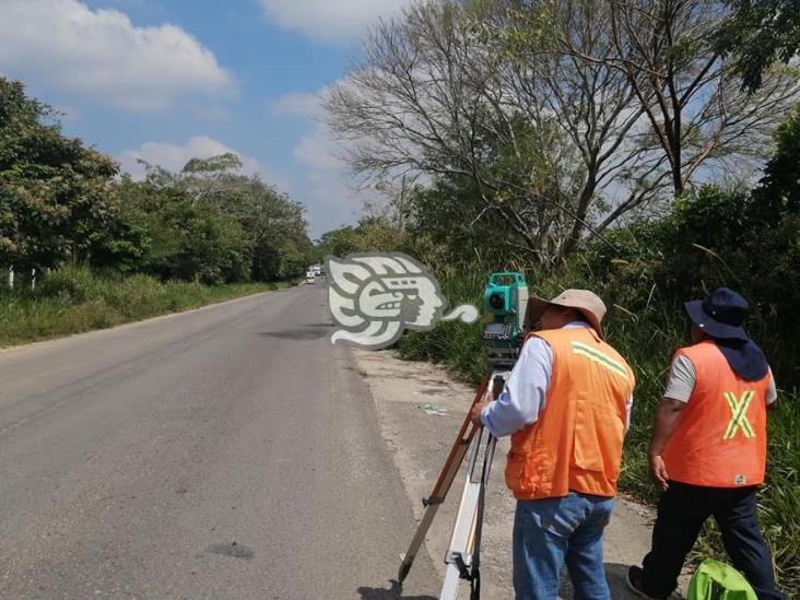
[{"label": "bare-branched trees, bushes and tall grass right of the road", "polygon": [[[450,304],[492,271],[552,297],[588,287],[637,376],[621,487],[654,501],[646,448],[683,302],[720,285],[778,381],[760,518],[800,590],[800,47],[788,1],[431,1],[376,25],[326,98],[354,174],[386,196],[320,251],[399,250]],[[397,344],[485,375],[481,326]],[[709,526],[698,555],[721,555]]]}]

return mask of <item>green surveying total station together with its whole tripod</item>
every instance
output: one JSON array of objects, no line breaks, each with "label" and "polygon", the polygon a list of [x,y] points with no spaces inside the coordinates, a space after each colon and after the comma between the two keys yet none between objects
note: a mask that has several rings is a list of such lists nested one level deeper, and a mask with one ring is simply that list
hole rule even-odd
[{"label": "green surveying total station together with its whole tripod", "polygon": [[[472,407],[481,401],[496,400],[503,391],[508,374],[519,356],[527,333],[528,284],[522,273],[492,273],[483,293],[485,320],[483,341],[490,373],[483,379],[467,416],[461,423],[431,495],[423,498],[425,513],[416,528],[409,550],[402,556],[398,580],[402,584],[411,569],[416,553],[425,541],[439,506],[456,479],[461,462],[469,452],[467,479],[450,543],[445,555],[447,569],[439,593],[440,600],[455,600],[461,579],[470,583],[471,600],[481,596],[480,549],[483,528],[483,508],[486,484],[494,459],[496,438],[472,423]],[[480,468],[479,468],[480,463]]]}]

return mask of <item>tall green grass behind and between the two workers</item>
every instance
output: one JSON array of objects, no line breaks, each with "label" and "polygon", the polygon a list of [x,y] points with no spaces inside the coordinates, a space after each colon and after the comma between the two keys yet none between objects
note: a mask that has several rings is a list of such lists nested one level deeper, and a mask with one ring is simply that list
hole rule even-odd
[{"label": "tall green grass behind and between the two workers", "polygon": [[[446,271],[438,279],[451,305],[470,303],[482,307],[489,272],[489,269],[473,266],[462,272]],[[528,282],[531,294],[541,297],[553,297],[566,287],[588,287],[607,299],[609,315],[603,322],[607,337],[636,374],[635,403],[625,440],[620,489],[638,499],[655,502],[658,491],[648,473],[647,446],[671,354],[689,343],[689,321],[683,317],[681,306],[656,302],[655,291],[648,290],[647,302],[637,302],[636,310],[630,310],[625,306],[625,290],[595,280],[585,266],[579,269],[567,267],[555,274],[531,277],[529,273]],[[444,322],[431,332],[407,333],[399,341],[398,350],[404,358],[440,363],[459,377],[477,383],[485,376],[487,368],[481,328],[481,323]],[[778,409],[769,414],[767,482],[758,493],[762,529],[773,551],[779,583],[790,598],[800,598],[800,592],[795,591],[800,590],[799,402],[800,395],[780,392]],[[710,522],[695,546],[695,558],[701,555],[725,560],[721,541]]]}]

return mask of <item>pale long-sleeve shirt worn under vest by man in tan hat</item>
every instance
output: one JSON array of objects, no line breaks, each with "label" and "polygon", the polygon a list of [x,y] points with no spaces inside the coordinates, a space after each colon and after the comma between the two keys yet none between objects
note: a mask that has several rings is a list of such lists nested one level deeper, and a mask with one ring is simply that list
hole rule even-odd
[{"label": "pale long-sleeve shirt worn under vest by man in tan hat", "polygon": [[[564,329],[591,327],[586,321],[572,321]],[[546,403],[553,375],[553,349],[542,338],[531,337],[496,401],[481,412],[481,422],[495,437],[510,435],[539,420]],[[627,403],[625,428],[631,422],[633,397]]]}]

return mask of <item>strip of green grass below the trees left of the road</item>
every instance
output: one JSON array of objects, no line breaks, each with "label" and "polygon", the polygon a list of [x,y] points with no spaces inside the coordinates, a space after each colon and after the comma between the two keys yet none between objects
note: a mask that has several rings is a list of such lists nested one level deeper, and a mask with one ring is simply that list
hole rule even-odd
[{"label": "strip of green grass below the trees left of the road", "polygon": [[49,273],[35,291],[0,290],[0,346],[114,327],[293,284],[162,283],[148,275],[103,277],[69,267]]}]

